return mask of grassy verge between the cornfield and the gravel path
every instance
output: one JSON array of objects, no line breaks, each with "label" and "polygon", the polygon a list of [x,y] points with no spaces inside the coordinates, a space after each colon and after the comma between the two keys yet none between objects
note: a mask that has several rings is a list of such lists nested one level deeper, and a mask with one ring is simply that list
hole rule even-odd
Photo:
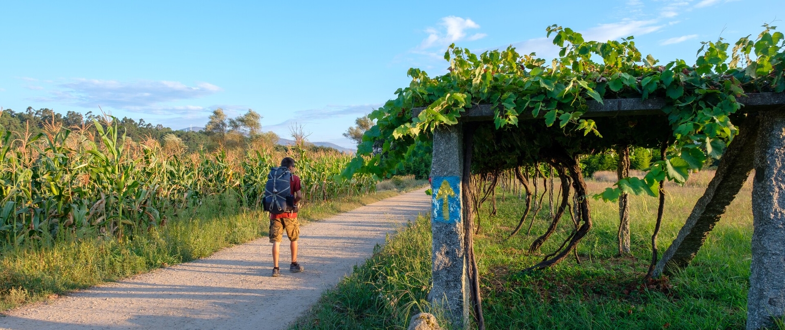
[{"label": "grassy verge between the cornfield and the gravel path", "polygon": [[[324,219],[423,184],[407,181],[375,194],[305,204],[298,217],[303,223]],[[236,198],[222,195],[167,216],[165,226],[137,230],[130,238],[78,232],[45,245],[0,249],[0,310],[210,256],[265,236],[269,225],[264,212],[243,209]]]}]

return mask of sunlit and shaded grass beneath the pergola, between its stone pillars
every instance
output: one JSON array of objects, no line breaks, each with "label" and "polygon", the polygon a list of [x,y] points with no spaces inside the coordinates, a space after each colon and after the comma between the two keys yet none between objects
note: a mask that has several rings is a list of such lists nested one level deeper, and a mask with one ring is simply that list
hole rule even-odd
[{"label": "sunlit and shaded grass beneath the pergola, between its stone pillars", "polygon": [[[588,183],[593,192],[607,185]],[[674,240],[703,189],[692,185],[666,188],[660,252]],[[517,224],[520,201],[511,198],[498,204],[498,216],[484,223],[483,234],[476,239],[489,328],[744,327],[752,234],[749,183],[690,267],[667,281],[645,285],[641,278],[651,256],[656,201],[631,198],[632,256],[625,257],[616,256],[618,206],[593,201],[591,207],[595,226],[579,245],[580,264],[571,258],[553,269],[521,273],[542,256],[527,252],[533,237],[517,235],[503,240]],[[532,236],[546,226],[547,212],[543,213],[535,221]],[[571,220],[565,217],[542,252],[558,248],[571,227]]]}]

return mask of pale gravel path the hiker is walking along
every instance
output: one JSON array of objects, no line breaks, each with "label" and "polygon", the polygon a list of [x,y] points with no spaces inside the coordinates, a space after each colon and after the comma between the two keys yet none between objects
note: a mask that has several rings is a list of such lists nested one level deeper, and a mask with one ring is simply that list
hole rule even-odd
[{"label": "pale gravel path the hiker is walking along", "polygon": [[282,276],[270,277],[272,245],[261,238],[192,263],[11,310],[0,317],[0,328],[287,328],[324,289],[371,256],[386,233],[429,209],[430,199],[419,189],[309,223],[301,228],[302,273],[287,270],[284,238]]}]

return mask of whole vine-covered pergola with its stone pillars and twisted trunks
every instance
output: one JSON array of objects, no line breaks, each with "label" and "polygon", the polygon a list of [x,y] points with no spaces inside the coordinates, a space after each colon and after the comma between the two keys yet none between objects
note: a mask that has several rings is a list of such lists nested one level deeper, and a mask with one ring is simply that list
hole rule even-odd
[{"label": "whole vine-covered pergola with its stone pillars and twisted trunks", "polygon": [[[632,37],[584,41],[557,25],[546,28],[561,47],[550,63],[512,47],[478,56],[451,45],[444,56],[449,73],[430,78],[411,69],[411,85],[371,113],[377,123],[363,136],[345,175],[390,175],[413,156],[432,152],[429,297],[458,328],[470,325],[472,316],[483,328],[472,234],[473,209],[483,198],[471,183],[473,174],[513,170],[527,190],[523,223],[530,193],[520,168],[555,169],[560,203],[529,251],[550,238],[565,209],[575,216],[575,228],[530,270],[550,267],[575,251],[592,227],[589,198],[626,205],[629,194],[658,197],[647,274],[652,278],[688,265],[755,169],[747,328],[772,325],[772,317],[785,314],[785,35],[764,27],[758,38],[741,38],[730,52],[722,39],[703,42],[694,65],[684,60],[659,65],[651,55],[641,56]],[[578,158],[629,147],[656,148],[660,158],[643,178],[619,172],[613,187],[588,194]],[[658,259],[664,183],[685,183],[710,159],[720,159],[714,179]]]}]

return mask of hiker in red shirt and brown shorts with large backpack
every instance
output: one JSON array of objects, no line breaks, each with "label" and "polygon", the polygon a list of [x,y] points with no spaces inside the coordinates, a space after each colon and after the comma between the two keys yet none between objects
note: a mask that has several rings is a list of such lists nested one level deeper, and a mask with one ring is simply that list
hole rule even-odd
[{"label": "hiker in red shirt and brown shorts with large backpack", "polygon": [[297,262],[298,238],[300,237],[300,223],[297,219],[298,202],[302,199],[300,177],[294,174],[294,158],[286,157],[281,160],[281,166],[272,169],[268,175],[265,187],[265,211],[270,212],[270,243],[272,243],[272,276],[280,276],[278,255],[280,251],[283,230],[287,230],[289,247],[292,252],[292,263],[289,271],[298,273],[303,267]]}]

